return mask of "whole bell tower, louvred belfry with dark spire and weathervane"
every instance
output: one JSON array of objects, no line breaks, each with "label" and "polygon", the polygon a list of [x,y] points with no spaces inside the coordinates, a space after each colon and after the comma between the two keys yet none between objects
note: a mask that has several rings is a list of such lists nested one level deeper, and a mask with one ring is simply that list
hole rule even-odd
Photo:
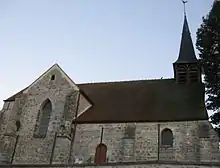
[{"label": "whole bell tower, louvred belfry with dark spire and weathervane", "polygon": [[185,4],[187,1],[182,2],[184,4],[184,22],[179,57],[173,63],[174,78],[177,83],[198,83],[201,82],[201,68],[195,55],[186,17]]}]

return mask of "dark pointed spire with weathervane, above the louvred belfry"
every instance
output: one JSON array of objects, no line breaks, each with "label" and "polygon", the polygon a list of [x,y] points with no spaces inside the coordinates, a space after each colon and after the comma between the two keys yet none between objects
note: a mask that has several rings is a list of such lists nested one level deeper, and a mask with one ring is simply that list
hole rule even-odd
[{"label": "dark pointed spire with weathervane, above the louvred belfry", "polygon": [[193,63],[197,62],[192,38],[190,35],[189,25],[186,17],[185,4],[187,1],[182,1],[184,4],[184,23],[182,30],[182,39],[179,51],[179,57],[175,63]]}]

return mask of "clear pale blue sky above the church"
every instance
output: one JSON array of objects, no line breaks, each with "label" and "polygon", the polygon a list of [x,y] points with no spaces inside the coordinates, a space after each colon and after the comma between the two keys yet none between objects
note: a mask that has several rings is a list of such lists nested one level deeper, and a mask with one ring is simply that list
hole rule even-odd
[{"label": "clear pale blue sky above the church", "polygon": [[[213,0],[189,0],[196,30]],[[0,106],[54,63],[76,83],[173,77],[181,0],[0,0]]]}]

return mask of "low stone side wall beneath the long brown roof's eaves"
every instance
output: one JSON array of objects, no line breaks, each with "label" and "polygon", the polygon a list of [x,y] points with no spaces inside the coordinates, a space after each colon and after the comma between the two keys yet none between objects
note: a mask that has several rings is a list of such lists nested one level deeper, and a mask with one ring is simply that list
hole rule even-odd
[{"label": "low stone side wall beneath the long brown roof's eaves", "polygon": [[[209,136],[206,138],[199,138],[201,123],[209,127]],[[126,137],[128,126],[135,127],[133,138]],[[108,162],[151,160],[217,162],[220,159],[218,136],[210,123],[188,121],[77,125],[73,160],[80,159],[83,163],[88,163],[88,159],[92,158],[94,162],[95,149],[100,143],[101,127],[104,128],[103,143],[108,148]],[[173,147],[160,144],[161,131],[165,128],[173,132]]]}]

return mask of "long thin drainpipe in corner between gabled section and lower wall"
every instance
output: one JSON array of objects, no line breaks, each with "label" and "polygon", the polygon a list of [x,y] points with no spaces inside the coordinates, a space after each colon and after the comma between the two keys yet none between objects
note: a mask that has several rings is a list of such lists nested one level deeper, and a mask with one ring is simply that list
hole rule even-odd
[{"label": "long thin drainpipe in corner between gabled section and lower wall", "polygon": [[75,139],[75,134],[76,134],[76,125],[77,125],[77,122],[76,122],[76,118],[77,118],[77,115],[78,115],[78,108],[79,108],[79,100],[80,100],[80,91],[78,93],[78,96],[77,96],[77,103],[76,103],[76,113],[75,113],[75,119],[74,119],[74,132],[73,132],[73,135],[72,135],[72,139],[71,139],[71,142],[70,142],[70,153],[69,153],[69,158],[68,158],[68,163],[71,164],[71,158],[72,158],[72,148],[73,148],[73,144],[74,144],[74,139]]}]

